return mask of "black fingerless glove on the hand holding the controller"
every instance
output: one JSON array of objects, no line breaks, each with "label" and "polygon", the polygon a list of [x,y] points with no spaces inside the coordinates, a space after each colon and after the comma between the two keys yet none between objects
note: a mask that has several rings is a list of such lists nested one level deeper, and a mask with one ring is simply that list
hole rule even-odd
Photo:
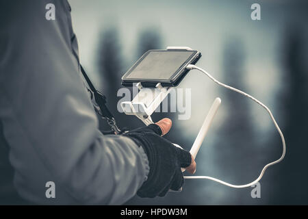
[{"label": "black fingerless glove on the hand holding the controller", "polygon": [[165,196],[169,189],[179,190],[183,185],[181,167],[188,167],[192,162],[188,151],[174,146],[161,134],[162,130],[156,124],[125,133],[125,136],[142,146],[149,159],[148,179],[137,192],[142,198]]}]

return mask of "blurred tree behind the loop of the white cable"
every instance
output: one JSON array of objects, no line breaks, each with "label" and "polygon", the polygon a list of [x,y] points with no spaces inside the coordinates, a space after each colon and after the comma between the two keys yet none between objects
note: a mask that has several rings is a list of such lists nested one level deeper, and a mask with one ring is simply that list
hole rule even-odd
[{"label": "blurred tree behind the loop of the white cable", "polygon": [[[244,46],[240,39],[231,38],[224,44],[223,73],[226,83],[245,92],[244,86]],[[218,131],[218,138],[214,146],[216,154],[217,172],[220,179],[234,184],[246,183],[255,179],[254,167],[257,164],[256,141],[250,112],[250,101],[241,94],[222,88],[224,109],[226,118],[224,125]],[[238,180],[240,179],[240,180]],[[219,203],[245,204],[252,200],[250,188],[246,190],[233,190],[226,187],[218,187],[224,191],[224,200]],[[248,194],[248,195],[247,195]],[[245,200],[244,200],[245,199]]]}]

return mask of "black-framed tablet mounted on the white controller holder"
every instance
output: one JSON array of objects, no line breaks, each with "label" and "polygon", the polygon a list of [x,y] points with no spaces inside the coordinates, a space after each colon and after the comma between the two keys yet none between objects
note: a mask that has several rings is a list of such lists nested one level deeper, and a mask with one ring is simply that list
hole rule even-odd
[{"label": "black-framed tablet mounted on the white controller holder", "polygon": [[195,50],[168,49],[149,50],[133,64],[123,75],[123,86],[133,86],[140,82],[144,87],[155,87],[157,83],[162,86],[178,86],[188,73],[186,66],[195,64],[201,53]]}]

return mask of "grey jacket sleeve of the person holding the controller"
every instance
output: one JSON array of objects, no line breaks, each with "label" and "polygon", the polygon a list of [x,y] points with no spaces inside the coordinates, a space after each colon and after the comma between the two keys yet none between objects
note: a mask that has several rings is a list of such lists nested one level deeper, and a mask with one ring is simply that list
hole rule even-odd
[{"label": "grey jacket sleeve of the person holding the controller", "polygon": [[[124,203],[146,179],[148,159],[130,138],[99,131],[64,28],[66,1],[17,2],[0,7],[0,119],[16,190],[34,203]],[[55,21],[45,18],[47,3]]]}]

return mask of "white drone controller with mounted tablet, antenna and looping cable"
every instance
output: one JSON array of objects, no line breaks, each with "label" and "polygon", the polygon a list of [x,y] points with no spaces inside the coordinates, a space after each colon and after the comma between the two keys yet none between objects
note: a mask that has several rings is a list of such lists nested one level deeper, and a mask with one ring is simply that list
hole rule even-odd
[{"label": "white drone controller with mounted tablet, antenna and looping cable", "polygon": [[[264,168],[261,170],[259,177],[257,177],[255,181],[244,185],[233,185],[220,179],[208,176],[185,176],[184,179],[209,179],[232,188],[246,188],[251,185],[255,185],[255,183],[257,183],[263,177],[265,170],[269,166],[281,162],[281,160],[285,157],[285,139],[283,137],[283,133],[277,125],[272,112],[270,112],[264,103],[261,103],[261,101],[255,99],[255,97],[247,94],[246,92],[243,92],[242,90],[238,90],[237,88],[233,88],[224,83],[221,83],[209,73],[207,73],[207,71],[203,70],[203,68],[195,66],[194,64],[200,57],[200,52],[192,50],[189,47],[167,47],[166,50],[150,50],[144,53],[144,55],[142,55],[142,57],[140,57],[140,59],[131,68],[129,68],[127,73],[125,73],[125,75],[122,77],[123,86],[137,86],[139,91],[138,94],[133,98],[133,101],[125,101],[120,103],[123,112],[125,112],[127,115],[135,115],[140,118],[140,120],[142,120],[145,125],[150,125],[153,123],[151,115],[169,94],[171,88],[179,85],[183,77],[187,75],[188,71],[193,69],[201,71],[219,86],[233,90],[234,92],[238,92],[245,97],[255,101],[255,103],[261,105],[261,107],[264,107],[264,109],[270,115],[274,126],[279,132],[279,135],[281,136],[283,153],[279,159],[266,164],[266,166],[264,166]],[[190,153],[194,158],[200,149],[200,146],[205,138],[205,135],[207,134],[212,120],[214,119],[220,103],[220,98],[216,98],[214,100],[214,103],[211,105],[203,125],[199,130],[196,139],[194,140],[194,144],[190,149]],[[175,144],[175,146],[181,148],[181,146],[177,144]],[[185,168],[182,168],[182,172],[184,171]],[[181,189],[177,192],[181,192]]]}]

